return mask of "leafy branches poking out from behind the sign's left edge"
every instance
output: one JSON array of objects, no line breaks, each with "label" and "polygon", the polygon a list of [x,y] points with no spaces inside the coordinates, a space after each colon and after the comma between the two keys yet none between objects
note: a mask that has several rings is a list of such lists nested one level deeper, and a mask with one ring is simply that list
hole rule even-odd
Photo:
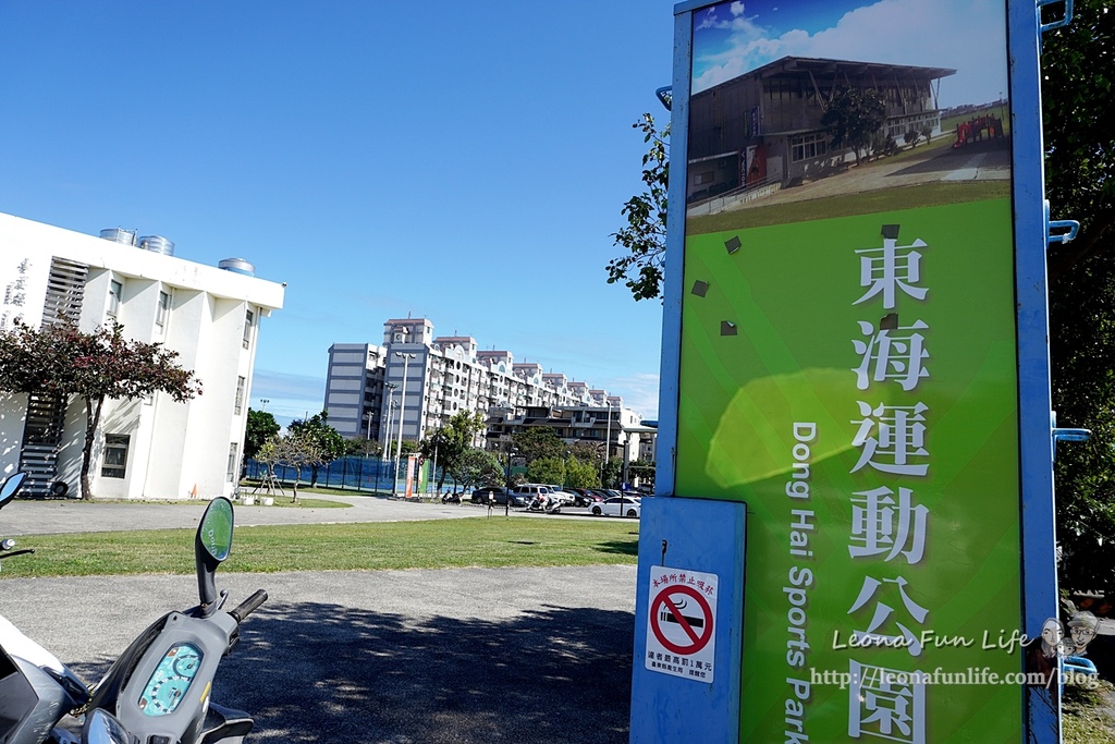
[{"label": "leafy branches poking out from behind the sign's left edge", "polygon": [[661,294],[666,262],[670,125],[657,129],[655,117],[643,114],[632,126],[643,133],[642,141],[650,145],[642,156],[646,190],[629,199],[621,210],[628,223],[612,233],[612,239],[613,244],[622,247],[624,253],[608,262],[608,283],[623,282],[636,300],[647,300]]}]

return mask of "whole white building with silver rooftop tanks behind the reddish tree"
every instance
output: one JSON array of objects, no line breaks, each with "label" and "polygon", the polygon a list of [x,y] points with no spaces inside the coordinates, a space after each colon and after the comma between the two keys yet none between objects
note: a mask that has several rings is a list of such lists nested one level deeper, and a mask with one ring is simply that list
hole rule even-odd
[{"label": "whole white building with silver rooftop tanks behind the reddish tree", "polygon": [[[112,233],[109,235],[109,233]],[[116,320],[127,338],[162,342],[192,369],[203,395],[106,400],[90,476],[113,499],[231,493],[239,480],[248,395],[261,318],[282,307],[282,286],[173,257],[173,243],[104,231],[109,240],[0,214],[0,330],[64,317],[91,331]],[[124,239],[128,242],[114,242]],[[162,251],[162,252],[159,252]],[[28,398],[32,398],[29,400]],[[0,396],[0,473],[28,471],[29,491],[80,491],[85,406]]]}]

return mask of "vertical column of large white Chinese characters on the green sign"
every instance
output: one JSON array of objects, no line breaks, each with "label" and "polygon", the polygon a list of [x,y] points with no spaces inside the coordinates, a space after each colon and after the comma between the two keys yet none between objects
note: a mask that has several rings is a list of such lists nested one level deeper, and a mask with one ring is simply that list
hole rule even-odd
[{"label": "vertical column of large white Chinese characters on the green sign", "polygon": [[[883,225],[883,247],[856,251],[860,255],[860,286],[866,291],[853,305],[881,299],[882,318],[878,331],[871,322],[859,321],[861,336],[852,347],[860,357],[855,373],[856,388],[871,392],[874,386],[896,385],[903,405],[857,400],[861,418],[852,442],[860,457],[852,472],[873,468],[891,483],[850,495],[852,530],[847,535],[849,557],[861,561],[870,573],[851,602],[847,615],[866,620],[866,627],[852,632],[859,647],[903,647],[910,656],[922,654],[922,630],[930,608],[910,597],[909,581],[901,566],[915,566],[925,554],[930,512],[917,503],[912,486],[929,473],[930,453],[925,448],[929,407],[919,399],[918,388],[930,377],[925,332],[929,326],[915,319],[901,326],[899,310],[927,301],[929,288],[921,286],[921,249],[918,239],[899,245],[900,225]],[[913,628],[911,628],[911,626]],[[875,684],[881,667],[850,659],[850,671],[857,682],[849,694],[849,736],[875,736],[891,741],[922,744],[925,741],[925,688],[923,684]]]}]

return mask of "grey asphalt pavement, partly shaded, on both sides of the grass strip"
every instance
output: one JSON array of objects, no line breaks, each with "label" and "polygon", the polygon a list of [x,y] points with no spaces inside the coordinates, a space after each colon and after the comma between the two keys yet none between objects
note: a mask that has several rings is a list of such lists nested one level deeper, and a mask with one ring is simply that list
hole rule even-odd
[{"label": "grey asphalt pavement, partly shaded, on both sides of the grass strip", "polygon": [[[365,515],[379,519],[487,513],[367,504]],[[33,534],[33,524],[10,528],[20,512],[46,505],[4,509],[2,532]],[[352,509],[259,510],[265,512],[365,521],[352,519]],[[307,520],[300,512],[319,514]],[[38,514],[68,520],[66,530],[38,530],[56,532],[122,519],[129,529],[148,521],[190,526],[201,508],[64,503]],[[266,523],[250,508],[237,508],[236,519]],[[634,578],[633,566],[219,573],[231,605],[260,588],[271,599],[222,663],[214,699],[250,712],[256,742],[627,742]],[[196,603],[196,582],[183,576],[8,579],[0,591],[3,615],[87,680],[164,611]]]}]

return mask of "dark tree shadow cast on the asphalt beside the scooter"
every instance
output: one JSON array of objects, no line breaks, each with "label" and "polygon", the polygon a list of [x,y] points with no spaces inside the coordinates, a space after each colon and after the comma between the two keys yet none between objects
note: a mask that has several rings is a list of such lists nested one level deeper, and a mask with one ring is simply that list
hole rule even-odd
[{"label": "dark tree shadow cast on the asphalt beside the scooter", "polygon": [[[489,621],[268,606],[213,697],[253,715],[254,742],[620,744],[632,626],[630,612],[588,608]],[[75,668],[97,679],[107,664]]]}]

